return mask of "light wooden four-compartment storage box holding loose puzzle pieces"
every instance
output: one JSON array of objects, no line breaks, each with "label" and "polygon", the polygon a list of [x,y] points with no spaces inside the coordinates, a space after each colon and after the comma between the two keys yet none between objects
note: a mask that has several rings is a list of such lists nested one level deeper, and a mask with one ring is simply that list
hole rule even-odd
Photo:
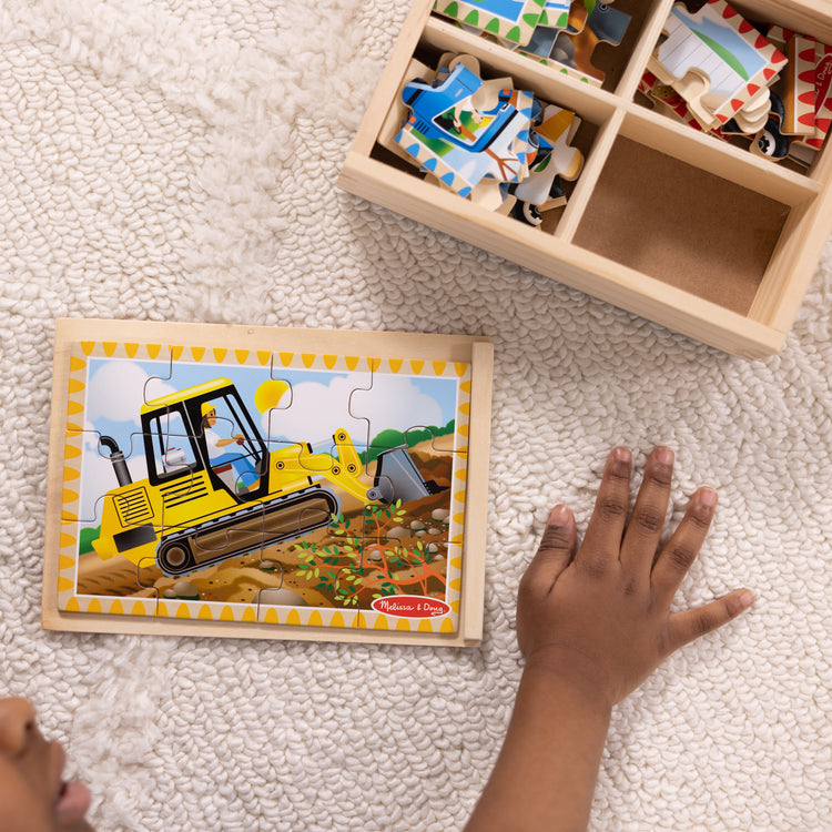
[{"label": "light wooden four-compartment storage box holding loose puzzle pieces", "polygon": [[[639,80],[673,0],[616,0],[633,19],[605,55],[601,89],[463,31],[433,4],[414,3],[339,186],[726,352],[775,353],[832,231],[832,141],[803,171],[646,106]],[[731,6],[832,43],[828,0]],[[574,144],[586,155],[584,172],[568,205],[547,212],[542,226],[425,182],[378,143],[410,61],[433,65],[447,51],[473,54],[484,77],[510,75],[516,88],[582,119]]]}]

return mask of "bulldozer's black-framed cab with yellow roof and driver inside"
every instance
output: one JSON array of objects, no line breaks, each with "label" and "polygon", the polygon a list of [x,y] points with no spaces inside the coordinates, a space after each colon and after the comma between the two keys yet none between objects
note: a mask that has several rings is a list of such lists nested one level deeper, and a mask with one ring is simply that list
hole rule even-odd
[{"label": "bulldozer's black-framed cab with yellow roof and driver inside", "polygon": [[214,488],[239,503],[267,491],[266,446],[227,379],[182,390],[142,409],[152,485],[205,470]]}]

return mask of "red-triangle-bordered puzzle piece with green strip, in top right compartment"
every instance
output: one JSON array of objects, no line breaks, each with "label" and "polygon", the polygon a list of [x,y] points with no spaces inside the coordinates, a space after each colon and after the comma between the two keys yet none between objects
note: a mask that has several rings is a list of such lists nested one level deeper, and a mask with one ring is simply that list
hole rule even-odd
[{"label": "red-triangle-bordered puzzle piece with green strip, in top right compartment", "polygon": [[787,64],[724,0],[709,0],[696,14],[677,3],[663,35],[648,69],[682,94],[706,130],[733,119]]}]

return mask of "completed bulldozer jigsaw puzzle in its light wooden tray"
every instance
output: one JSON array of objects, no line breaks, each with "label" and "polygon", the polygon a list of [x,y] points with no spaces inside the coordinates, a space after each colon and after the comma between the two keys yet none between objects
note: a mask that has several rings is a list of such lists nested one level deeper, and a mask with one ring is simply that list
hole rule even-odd
[{"label": "completed bulldozer jigsaw puzzle in its light wooden tray", "polygon": [[59,321],[44,627],[476,642],[490,363],[466,336]]}]

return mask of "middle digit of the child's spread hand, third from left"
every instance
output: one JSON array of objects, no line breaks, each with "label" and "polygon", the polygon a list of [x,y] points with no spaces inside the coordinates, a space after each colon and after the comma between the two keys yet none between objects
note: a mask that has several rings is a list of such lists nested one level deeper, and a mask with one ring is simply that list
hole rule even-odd
[{"label": "middle digit of the child's spread hand, third from left", "polygon": [[621,544],[621,564],[640,578],[649,576],[656,557],[670,501],[672,477],[673,451],[664,447],[656,448],[645,466],[645,478]]}]

